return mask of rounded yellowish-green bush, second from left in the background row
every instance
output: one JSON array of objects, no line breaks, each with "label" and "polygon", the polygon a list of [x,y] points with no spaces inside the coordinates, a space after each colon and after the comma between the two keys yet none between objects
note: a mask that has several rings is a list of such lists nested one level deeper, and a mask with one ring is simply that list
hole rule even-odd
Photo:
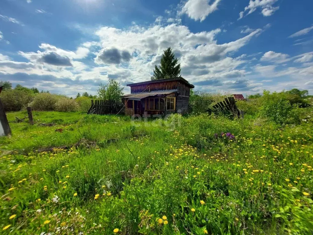
[{"label": "rounded yellowish-green bush, second from left in the background row", "polygon": [[53,111],[58,96],[50,93],[38,93],[29,104],[35,111]]}]

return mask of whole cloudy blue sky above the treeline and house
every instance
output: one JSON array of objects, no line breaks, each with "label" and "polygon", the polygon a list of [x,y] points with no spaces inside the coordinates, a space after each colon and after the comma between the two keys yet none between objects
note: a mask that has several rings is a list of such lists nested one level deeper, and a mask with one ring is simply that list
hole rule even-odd
[{"label": "whole cloudy blue sky above the treeline and house", "polygon": [[2,0],[0,80],[94,95],[109,78],[150,80],[171,46],[196,90],[313,94],[312,9],[292,0]]}]

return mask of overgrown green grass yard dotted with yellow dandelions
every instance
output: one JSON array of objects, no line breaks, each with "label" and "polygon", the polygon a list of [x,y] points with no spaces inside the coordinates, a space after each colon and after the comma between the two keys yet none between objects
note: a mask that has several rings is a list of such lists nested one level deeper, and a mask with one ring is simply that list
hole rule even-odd
[{"label": "overgrown green grass yard dotted with yellow dandelions", "polygon": [[[3,234],[309,234],[311,108],[297,125],[33,112],[0,138]],[[54,123],[53,126],[38,126]],[[140,124],[140,125],[138,125]],[[50,151],[51,150],[51,151]]]}]

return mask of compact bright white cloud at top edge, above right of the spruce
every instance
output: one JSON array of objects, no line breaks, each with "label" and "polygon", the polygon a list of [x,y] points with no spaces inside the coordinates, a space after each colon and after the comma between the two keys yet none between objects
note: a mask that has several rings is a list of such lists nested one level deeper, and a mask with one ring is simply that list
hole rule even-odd
[{"label": "compact bright white cloud at top edge, above right of the spruce", "polygon": [[189,18],[202,22],[210,13],[218,9],[218,3],[220,1],[215,0],[209,5],[209,0],[188,0],[180,13],[186,13]]}]

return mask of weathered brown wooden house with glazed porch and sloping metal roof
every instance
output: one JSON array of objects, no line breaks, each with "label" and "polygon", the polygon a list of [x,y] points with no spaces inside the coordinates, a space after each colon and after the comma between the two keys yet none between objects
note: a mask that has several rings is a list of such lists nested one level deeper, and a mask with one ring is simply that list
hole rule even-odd
[{"label": "weathered brown wooden house with glazed porch and sloping metal roof", "polygon": [[131,94],[123,95],[125,115],[186,113],[190,89],[194,88],[182,77],[127,84]]}]

